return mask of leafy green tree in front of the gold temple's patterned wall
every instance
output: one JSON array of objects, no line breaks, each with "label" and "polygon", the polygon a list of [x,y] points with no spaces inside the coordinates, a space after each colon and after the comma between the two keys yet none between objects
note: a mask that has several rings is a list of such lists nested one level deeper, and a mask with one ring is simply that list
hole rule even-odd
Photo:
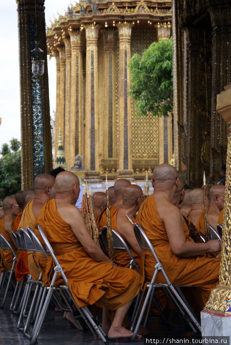
[{"label": "leafy green tree in front of the gold temple's patterned wall", "polygon": [[131,88],[137,115],[166,116],[173,108],[172,37],[153,42],[130,62]]}]

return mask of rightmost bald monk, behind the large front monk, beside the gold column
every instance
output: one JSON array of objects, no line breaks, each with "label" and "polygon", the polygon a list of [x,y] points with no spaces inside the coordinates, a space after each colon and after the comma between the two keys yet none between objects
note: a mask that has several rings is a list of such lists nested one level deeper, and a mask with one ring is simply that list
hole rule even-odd
[{"label": "rightmost bald monk, behind the large front monk, beside the gold column", "polygon": [[[223,224],[223,208],[225,201],[225,186],[216,184],[209,190],[210,205],[207,207],[208,224],[217,230],[217,224]],[[219,223],[222,221],[221,223]],[[198,230],[204,234],[204,210],[198,219]]]}]

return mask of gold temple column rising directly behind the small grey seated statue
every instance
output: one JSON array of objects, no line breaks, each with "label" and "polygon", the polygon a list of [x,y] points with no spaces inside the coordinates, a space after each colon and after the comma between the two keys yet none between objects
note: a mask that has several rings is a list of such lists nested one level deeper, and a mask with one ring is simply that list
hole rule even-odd
[{"label": "gold temple column rising directly behind the small grey seated statue", "polygon": [[70,77],[70,163],[77,154],[83,156],[83,58],[81,32],[69,31],[71,45]]}]

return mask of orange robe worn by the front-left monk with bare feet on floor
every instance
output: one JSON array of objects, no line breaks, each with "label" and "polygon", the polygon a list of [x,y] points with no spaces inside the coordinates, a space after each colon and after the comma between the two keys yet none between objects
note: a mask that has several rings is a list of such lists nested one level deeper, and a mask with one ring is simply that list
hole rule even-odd
[{"label": "orange robe worn by the front-left monk with bare feet on floor", "polygon": [[[79,307],[99,301],[109,310],[116,310],[131,301],[139,292],[141,276],[134,270],[113,266],[92,259],[75,237],[69,224],[59,215],[55,199],[41,209],[40,224],[68,279],[68,286]],[[35,229],[35,233],[38,231]],[[54,263],[48,256],[45,284],[51,281]],[[59,275],[57,285],[62,283]]]}]

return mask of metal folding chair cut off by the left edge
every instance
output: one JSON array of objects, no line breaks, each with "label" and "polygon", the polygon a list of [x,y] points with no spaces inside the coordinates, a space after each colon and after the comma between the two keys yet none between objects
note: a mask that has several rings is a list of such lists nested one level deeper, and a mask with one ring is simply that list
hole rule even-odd
[{"label": "metal folding chair cut off by the left edge", "polygon": [[[0,276],[0,297],[3,293],[2,299],[0,299],[0,308],[3,307],[6,299],[6,295],[9,290],[9,286],[12,283],[12,279],[14,278],[14,268],[17,262],[17,255],[15,254],[13,248],[11,247],[10,243],[4,238],[3,235],[0,234],[0,249],[9,249],[13,255],[13,262],[12,262],[12,267],[10,271],[2,271],[1,276]],[[8,280],[7,280],[8,277]],[[7,283],[6,283],[7,281]],[[5,286],[5,290],[3,292],[3,287]]]}]

